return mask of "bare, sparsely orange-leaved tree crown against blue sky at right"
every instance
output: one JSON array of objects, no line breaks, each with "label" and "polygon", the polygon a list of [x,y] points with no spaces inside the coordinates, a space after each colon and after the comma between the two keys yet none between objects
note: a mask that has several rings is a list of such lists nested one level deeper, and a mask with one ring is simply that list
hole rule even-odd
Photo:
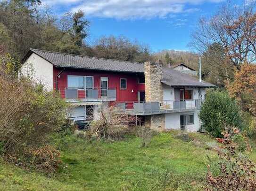
[{"label": "bare, sparsely orange-leaved tree crown against blue sky at right", "polygon": [[[256,60],[256,14],[255,4],[235,6],[231,1],[223,5],[211,18],[201,18],[192,35],[191,46],[204,53],[213,44],[220,44],[218,51],[232,66],[240,69],[245,62]],[[221,64],[221,63],[220,63]]]}]

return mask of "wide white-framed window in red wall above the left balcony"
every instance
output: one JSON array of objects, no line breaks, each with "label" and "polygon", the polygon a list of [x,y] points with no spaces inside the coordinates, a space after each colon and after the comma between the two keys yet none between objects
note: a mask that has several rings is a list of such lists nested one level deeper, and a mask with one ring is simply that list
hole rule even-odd
[{"label": "wide white-framed window in red wall above the left balcony", "polygon": [[67,87],[69,88],[93,88],[92,76],[67,76]]}]

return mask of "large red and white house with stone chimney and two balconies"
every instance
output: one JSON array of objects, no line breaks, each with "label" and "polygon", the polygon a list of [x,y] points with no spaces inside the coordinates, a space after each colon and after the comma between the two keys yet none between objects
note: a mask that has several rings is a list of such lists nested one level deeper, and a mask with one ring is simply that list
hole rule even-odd
[{"label": "large red and white house with stone chimney and two balconies", "polygon": [[[21,71],[56,89],[74,107],[69,117],[97,120],[102,103],[126,115],[137,115],[147,127],[200,129],[198,111],[206,88],[215,85],[164,68],[144,64],[30,49]],[[93,112],[91,112],[93,111]]]}]

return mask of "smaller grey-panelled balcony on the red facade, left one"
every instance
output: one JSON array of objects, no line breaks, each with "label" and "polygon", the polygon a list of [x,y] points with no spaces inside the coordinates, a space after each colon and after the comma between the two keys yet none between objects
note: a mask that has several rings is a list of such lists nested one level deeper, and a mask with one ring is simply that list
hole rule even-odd
[{"label": "smaller grey-panelled balcony on the red facade, left one", "polygon": [[59,88],[61,98],[67,102],[116,101],[116,88]]}]

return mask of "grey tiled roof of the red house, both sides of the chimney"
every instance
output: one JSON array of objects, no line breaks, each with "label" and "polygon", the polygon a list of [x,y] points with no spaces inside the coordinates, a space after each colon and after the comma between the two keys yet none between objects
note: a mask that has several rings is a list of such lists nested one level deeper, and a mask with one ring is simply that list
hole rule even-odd
[{"label": "grey tiled roof of the red house, both sides of the chimney", "polygon": [[[23,60],[25,61],[32,53],[39,55],[56,67],[144,73],[144,64],[141,63],[55,53],[37,49],[30,49]],[[205,81],[200,83],[197,78],[170,68],[164,68],[162,83],[169,86],[216,87],[214,84]]]}]

